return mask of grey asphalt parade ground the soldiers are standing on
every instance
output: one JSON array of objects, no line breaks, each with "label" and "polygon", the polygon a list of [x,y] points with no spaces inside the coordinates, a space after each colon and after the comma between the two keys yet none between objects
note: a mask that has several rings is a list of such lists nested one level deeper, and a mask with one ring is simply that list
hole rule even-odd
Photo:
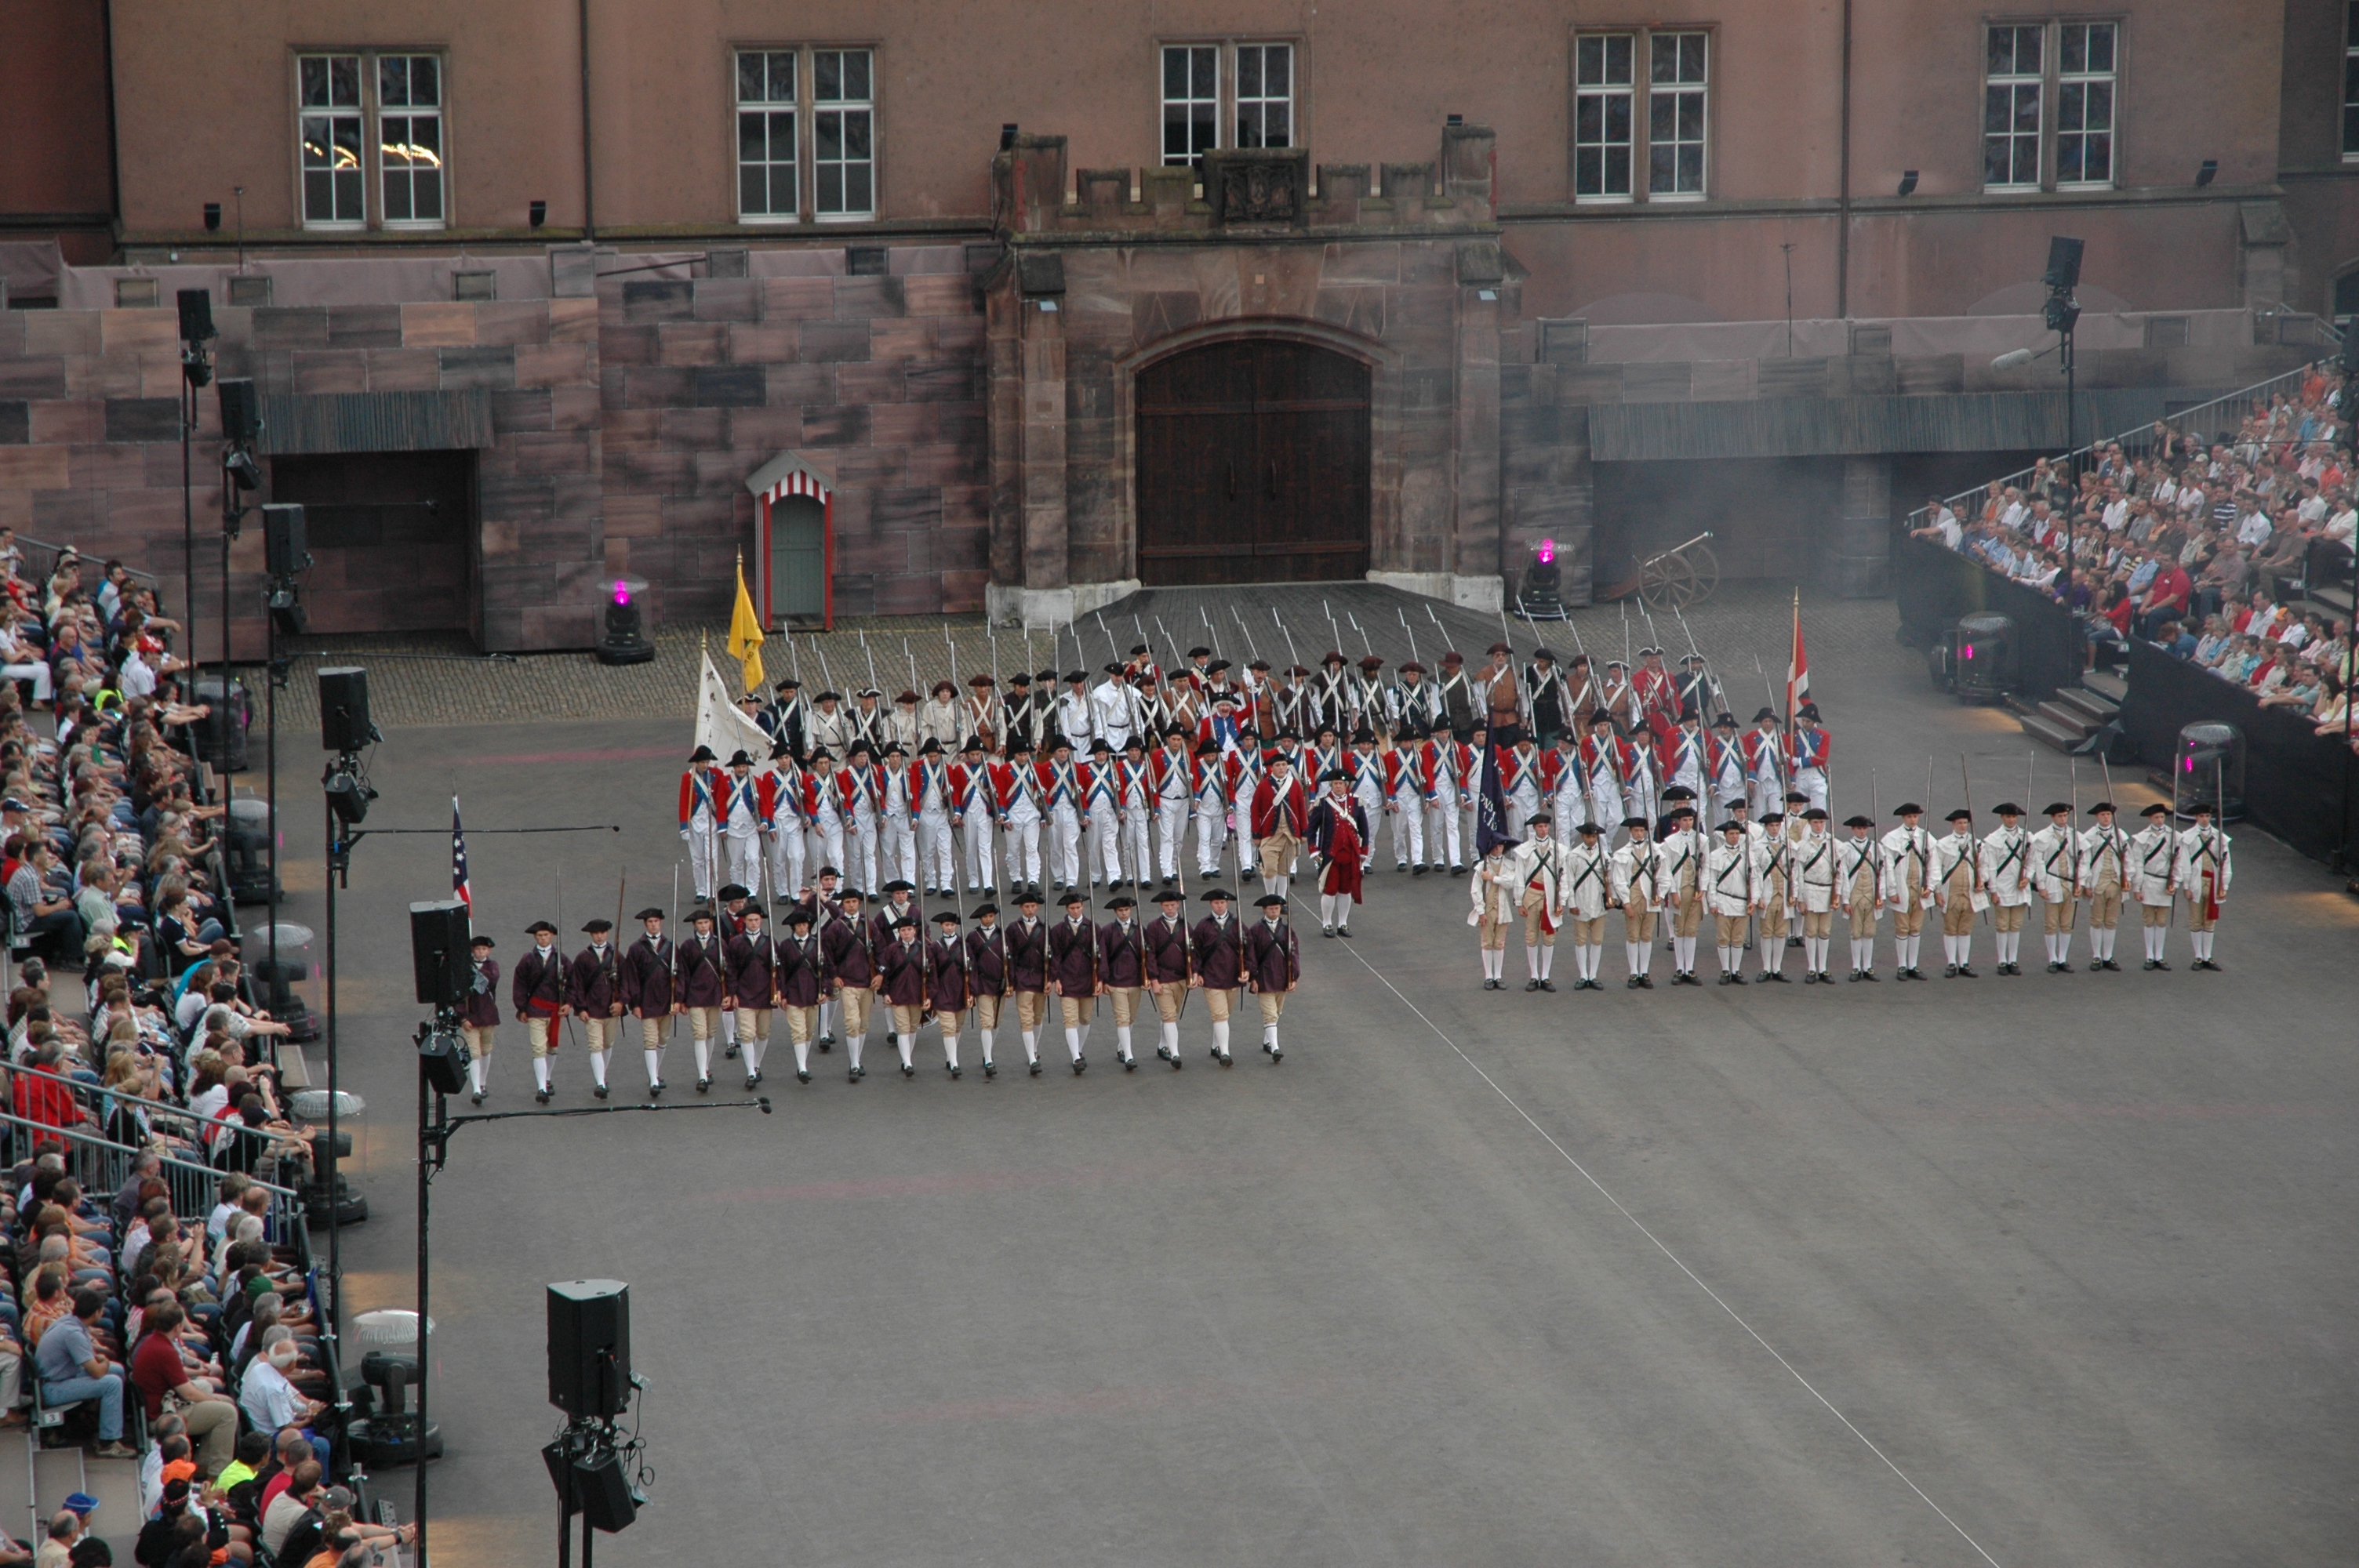
[{"label": "grey asphalt parade ground the soldiers are standing on", "polygon": [[[1960,752],[1984,811],[2026,762],[2029,804],[2071,788],[1887,637],[1812,644],[1838,816],[1927,757],[1946,811]],[[507,964],[559,868],[569,943],[670,901],[684,733],[389,726],[368,825],[436,832],[361,842],[340,896],[354,1309],[413,1299],[403,905],[448,896],[448,795]],[[623,832],[491,832],[573,823]],[[781,1040],[767,1118],[469,1127],[434,1186],[434,1556],[550,1561],[543,1287],[604,1276],[656,1467],[609,1566],[2352,1561],[2359,905],[2258,832],[2236,872],[2225,974],[2184,936],[2142,974],[2133,929],[2125,974],[2048,976],[2033,938],[1998,979],[1982,934],[1984,979],[1899,986],[1887,922],[1880,986],[1628,993],[1616,929],[1609,990],[1524,995],[1479,990],[1465,882],[1380,854],[1352,941],[1297,913],[1281,1066],[1241,1026],[1220,1070],[1196,1002],[1182,1073],[1151,1035],[1109,1070],[1102,1023],[1078,1080],[951,1082],[927,1033],[913,1082],[870,1037],[866,1082],[837,1052],[797,1087]],[[557,1073],[594,1103],[578,1049]],[[696,1099],[684,1033],[668,1075]],[[493,1080],[531,1108],[521,1026]]]}]

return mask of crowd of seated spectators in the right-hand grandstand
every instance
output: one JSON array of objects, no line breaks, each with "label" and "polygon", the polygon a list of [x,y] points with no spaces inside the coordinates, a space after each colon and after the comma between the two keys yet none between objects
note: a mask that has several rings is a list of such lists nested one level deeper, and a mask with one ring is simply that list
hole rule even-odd
[{"label": "crowd of seated spectators in the right-hand grandstand", "polygon": [[2158,420],[2078,474],[2043,457],[1974,505],[1934,498],[1913,533],[2069,606],[2092,660],[2137,637],[2342,738],[2352,627],[2314,592],[2354,582],[2354,394],[2312,365],[2208,443]]}]

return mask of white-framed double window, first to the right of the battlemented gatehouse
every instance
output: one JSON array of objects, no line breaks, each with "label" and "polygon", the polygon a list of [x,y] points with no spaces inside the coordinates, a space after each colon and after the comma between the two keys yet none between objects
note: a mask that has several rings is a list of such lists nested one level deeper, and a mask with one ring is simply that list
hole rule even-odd
[{"label": "white-framed double window, first to the right of the battlemented gatehouse", "polygon": [[1573,38],[1573,200],[1706,196],[1710,47],[1706,31]]}]

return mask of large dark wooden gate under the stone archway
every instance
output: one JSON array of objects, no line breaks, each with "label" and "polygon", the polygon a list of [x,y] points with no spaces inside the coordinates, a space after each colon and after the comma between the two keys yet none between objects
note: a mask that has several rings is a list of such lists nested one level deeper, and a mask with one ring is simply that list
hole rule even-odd
[{"label": "large dark wooden gate under the stone archway", "polygon": [[1281,337],[1139,373],[1139,580],[1368,573],[1368,365]]}]

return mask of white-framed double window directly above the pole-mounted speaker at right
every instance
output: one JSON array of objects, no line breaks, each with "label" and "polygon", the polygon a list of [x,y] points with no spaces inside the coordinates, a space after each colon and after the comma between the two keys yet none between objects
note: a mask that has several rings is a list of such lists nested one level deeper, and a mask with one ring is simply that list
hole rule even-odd
[{"label": "white-framed double window directly above the pole-mounted speaker at right", "polygon": [[1982,184],[1989,191],[2111,186],[2121,24],[2005,21],[1984,31]]}]

